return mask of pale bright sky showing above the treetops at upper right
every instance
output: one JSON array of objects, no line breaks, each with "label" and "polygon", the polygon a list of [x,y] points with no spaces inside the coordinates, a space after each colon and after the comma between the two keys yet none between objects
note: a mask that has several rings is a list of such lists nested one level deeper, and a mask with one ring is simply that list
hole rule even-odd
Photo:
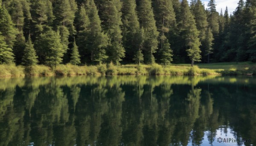
[{"label": "pale bright sky showing above the treetops at upper right", "polygon": [[[205,8],[207,8],[207,4],[208,4],[209,0],[202,0],[202,2],[204,3]],[[215,3],[217,5],[216,10],[220,13],[221,8],[222,8],[222,11],[224,14],[224,11],[227,6],[228,13],[230,14],[230,12],[231,12],[233,14],[233,11],[235,11],[238,2],[239,2],[239,0],[215,0]]]}]

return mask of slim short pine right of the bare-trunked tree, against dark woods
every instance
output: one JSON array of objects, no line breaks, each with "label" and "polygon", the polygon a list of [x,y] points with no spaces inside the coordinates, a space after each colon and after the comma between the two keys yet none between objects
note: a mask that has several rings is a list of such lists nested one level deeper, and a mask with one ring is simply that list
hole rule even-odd
[{"label": "slim short pine right of the bare-trunked tree, against dark woods", "polygon": [[210,62],[210,54],[212,54],[212,41],[214,40],[213,35],[212,35],[212,30],[211,28],[207,29],[207,33],[206,33],[206,37],[205,37],[205,45],[206,45],[206,49],[205,49],[205,55],[207,55],[207,63]]}]

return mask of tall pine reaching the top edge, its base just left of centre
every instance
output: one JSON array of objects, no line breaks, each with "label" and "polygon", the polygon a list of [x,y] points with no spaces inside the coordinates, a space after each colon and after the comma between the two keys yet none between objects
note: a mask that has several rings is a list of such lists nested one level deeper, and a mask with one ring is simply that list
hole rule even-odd
[{"label": "tall pine reaching the top edge, its base just left of centre", "polygon": [[108,46],[109,60],[116,64],[125,57],[125,49],[122,46],[122,12],[120,0],[101,1],[102,26],[108,35],[110,44]]}]

